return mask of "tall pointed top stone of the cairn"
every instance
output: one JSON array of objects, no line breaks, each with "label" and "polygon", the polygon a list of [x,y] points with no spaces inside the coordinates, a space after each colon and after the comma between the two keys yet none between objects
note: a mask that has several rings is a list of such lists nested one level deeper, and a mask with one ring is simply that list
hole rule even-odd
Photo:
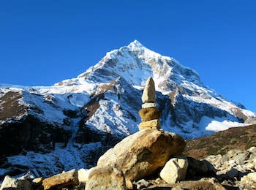
[{"label": "tall pointed top stone of the cairn", "polygon": [[154,80],[152,77],[148,77],[148,80],[146,81],[146,86],[144,88],[143,94],[142,94],[142,102],[143,103],[155,103],[156,102],[156,91],[154,88]]}]

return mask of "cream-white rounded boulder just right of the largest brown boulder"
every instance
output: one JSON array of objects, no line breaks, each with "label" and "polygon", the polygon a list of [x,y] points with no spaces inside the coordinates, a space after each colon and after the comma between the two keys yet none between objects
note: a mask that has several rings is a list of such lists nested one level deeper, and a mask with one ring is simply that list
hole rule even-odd
[{"label": "cream-white rounded boulder just right of the largest brown boulder", "polygon": [[167,183],[176,183],[185,180],[188,161],[186,157],[170,159],[160,172],[160,177]]}]

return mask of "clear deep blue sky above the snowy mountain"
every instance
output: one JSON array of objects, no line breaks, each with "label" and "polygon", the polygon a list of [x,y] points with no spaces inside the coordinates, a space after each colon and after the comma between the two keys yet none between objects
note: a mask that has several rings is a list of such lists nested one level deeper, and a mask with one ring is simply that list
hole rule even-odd
[{"label": "clear deep blue sky above the snowy mountain", "polygon": [[0,1],[0,83],[49,86],[138,39],[256,112],[256,1]]}]

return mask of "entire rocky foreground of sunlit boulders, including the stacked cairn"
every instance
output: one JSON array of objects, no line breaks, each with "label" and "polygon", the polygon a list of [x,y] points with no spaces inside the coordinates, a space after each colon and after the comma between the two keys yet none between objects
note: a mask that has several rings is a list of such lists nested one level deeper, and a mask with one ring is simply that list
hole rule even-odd
[{"label": "entire rocky foreground of sunlit boulders, including the stacked cairn", "polygon": [[50,178],[6,176],[2,189],[253,189],[256,148],[198,160],[182,156],[186,142],[159,126],[160,112],[148,78],[140,110],[140,131],[118,142],[89,170],[70,170]]}]

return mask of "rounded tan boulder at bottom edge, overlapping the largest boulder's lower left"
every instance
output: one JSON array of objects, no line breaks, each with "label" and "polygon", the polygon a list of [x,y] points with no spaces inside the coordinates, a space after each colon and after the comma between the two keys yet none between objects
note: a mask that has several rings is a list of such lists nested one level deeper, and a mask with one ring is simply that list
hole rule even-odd
[{"label": "rounded tan boulder at bottom edge, overlapping the largest boulder's lower left", "polygon": [[85,190],[123,190],[127,189],[124,174],[116,167],[93,167],[89,171]]}]

